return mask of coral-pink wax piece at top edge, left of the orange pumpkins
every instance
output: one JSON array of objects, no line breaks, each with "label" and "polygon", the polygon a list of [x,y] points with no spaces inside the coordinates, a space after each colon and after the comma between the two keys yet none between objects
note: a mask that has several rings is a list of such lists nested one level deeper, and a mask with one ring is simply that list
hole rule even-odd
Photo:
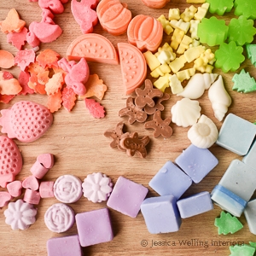
[{"label": "coral-pink wax piece at top edge, left of the orange pumpkins", "polygon": [[93,32],[93,26],[98,23],[98,17],[96,15],[96,6],[98,0],[72,0],[71,11],[74,19],[79,23],[81,31],[86,33]]}]

